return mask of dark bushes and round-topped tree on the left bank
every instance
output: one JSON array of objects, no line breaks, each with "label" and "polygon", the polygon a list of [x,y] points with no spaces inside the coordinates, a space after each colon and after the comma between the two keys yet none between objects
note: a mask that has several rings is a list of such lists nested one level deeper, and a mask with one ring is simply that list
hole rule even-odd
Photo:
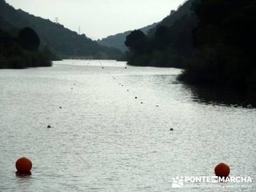
[{"label": "dark bushes and round-topped tree on the left bank", "polygon": [[13,37],[0,29],[0,68],[51,67],[54,54],[44,47],[38,50],[40,38],[31,28]]}]

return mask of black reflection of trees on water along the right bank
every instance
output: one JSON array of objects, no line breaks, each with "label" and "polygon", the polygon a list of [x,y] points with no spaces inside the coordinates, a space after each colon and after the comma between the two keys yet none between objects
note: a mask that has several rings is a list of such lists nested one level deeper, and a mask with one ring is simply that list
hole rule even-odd
[{"label": "black reflection of trees on water along the right bank", "polygon": [[184,85],[191,90],[193,100],[204,104],[256,108],[256,94],[236,92],[225,88],[207,88],[204,86]]}]

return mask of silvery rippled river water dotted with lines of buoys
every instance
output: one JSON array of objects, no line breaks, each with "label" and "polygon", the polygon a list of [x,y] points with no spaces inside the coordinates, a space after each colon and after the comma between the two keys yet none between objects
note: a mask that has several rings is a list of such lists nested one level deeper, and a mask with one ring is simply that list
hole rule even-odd
[{"label": "silvery rippled river water dotted with lines of buoys", "polygon": [[[205,102],[178,74],[97,60],[0,70],[0,191],[255,191],[256,109]],[[22,156],[30,176],[15,175]],[[221,162],[252,183],[172,188]]]}]

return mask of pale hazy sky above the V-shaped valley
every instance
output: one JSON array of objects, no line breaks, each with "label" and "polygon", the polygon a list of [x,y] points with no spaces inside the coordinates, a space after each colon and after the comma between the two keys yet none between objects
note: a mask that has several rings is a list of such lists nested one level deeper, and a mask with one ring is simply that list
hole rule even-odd
[{"label": "pale hazy sky above the V-shaped valley", "polygon": [[44,19],[58,17],[66,28],[96,40],[162,20],[184,0],[6,0]]}]

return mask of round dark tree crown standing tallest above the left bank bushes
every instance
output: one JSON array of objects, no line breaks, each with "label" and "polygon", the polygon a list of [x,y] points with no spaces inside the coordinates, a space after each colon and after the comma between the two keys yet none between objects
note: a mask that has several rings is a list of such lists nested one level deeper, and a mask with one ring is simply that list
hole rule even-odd
[{"label": "round dark tree crown standing tallest above the left bank bushes", "polygon": [[40,38],[33,29],[27,27],[20,30],[18,42],[24,49],[38,51]]}]

